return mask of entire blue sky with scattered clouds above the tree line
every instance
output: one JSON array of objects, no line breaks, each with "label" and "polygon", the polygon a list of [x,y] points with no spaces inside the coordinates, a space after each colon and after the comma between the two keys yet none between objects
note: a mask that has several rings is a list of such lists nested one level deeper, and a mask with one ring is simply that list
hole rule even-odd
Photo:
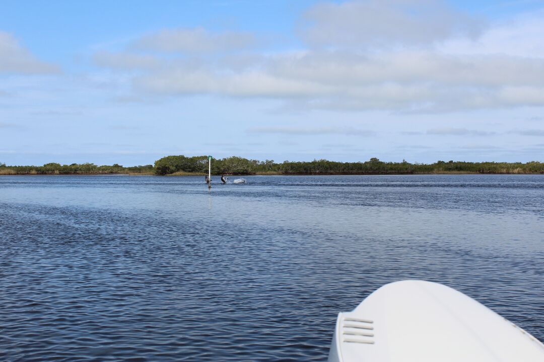
[{"label": "entire blue sky with scattered clouds above the tree line", "polygon": [[0,163],[544,161],[544,0],[0,4]]}]

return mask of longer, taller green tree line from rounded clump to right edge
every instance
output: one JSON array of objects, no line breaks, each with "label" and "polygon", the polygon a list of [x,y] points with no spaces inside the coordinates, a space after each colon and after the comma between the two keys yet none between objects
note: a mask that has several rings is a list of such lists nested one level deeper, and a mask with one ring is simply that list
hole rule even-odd
[{"label": "longer, taller green tree line from rounded clump to right edge", "polygon": [[[207,156],[166,156],[155,162],[158,175],[208,172]],[[227,175],[376,175],[376,174],[544,174],[544,163],[521,162],[460,162],[437,161],[435,163],[383,162],[370,158],[366,162],[334,162],[327,160],[258,161],[242,157],[227,157],[212,161],[213,174]]]}]

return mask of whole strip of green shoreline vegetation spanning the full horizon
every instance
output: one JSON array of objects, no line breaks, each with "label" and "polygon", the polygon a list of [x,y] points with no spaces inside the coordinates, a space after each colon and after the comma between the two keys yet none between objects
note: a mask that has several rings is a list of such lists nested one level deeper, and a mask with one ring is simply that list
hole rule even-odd
[{"label": "whole strip of green shoreline vegetation spanning the full horizon", "polygon": [[[0,175],[171,175],[203,176],[208,171],[208,156],[166,156],[154,165],[123,167],[97,166],[94,163],[44,166],[7,166],[0,163]],[[544,174],[544,163],[463,162],[435,163],[383,162],[370,158],[365,162],[313,160],[304,162],[257,161],[232,156],[212,161],[213,175],[410,175],[410,174]]]}]

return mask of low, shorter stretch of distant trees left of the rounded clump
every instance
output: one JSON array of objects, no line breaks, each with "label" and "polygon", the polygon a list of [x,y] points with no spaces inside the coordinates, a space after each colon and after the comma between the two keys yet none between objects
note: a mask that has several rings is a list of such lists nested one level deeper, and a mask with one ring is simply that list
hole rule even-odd
[{"label": "low, shorter stretch of distant trees left of the rounded clump", "polygon": [[112,166],[97,166],[94,163],[46,163],[44,166],[6,166],[0,163],[0,175],[71,175],[71,174],[139,174],[154,173],[152,164],[145,166],[123,167],[120,164]]}]

